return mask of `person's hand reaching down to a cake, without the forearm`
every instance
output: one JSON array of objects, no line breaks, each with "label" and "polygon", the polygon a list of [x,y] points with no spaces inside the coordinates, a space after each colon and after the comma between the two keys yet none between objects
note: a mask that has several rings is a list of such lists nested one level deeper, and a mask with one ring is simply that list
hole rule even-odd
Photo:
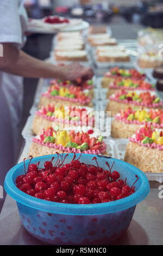
[{"label": "person's hand reaching down to a cake, without the forearm", "polygon": [[70,65],[60,66],[61,68],[61,80],[77,81],[79,78],[82,81],[86,81],[92,78],[92,68],[84,68],[79,63],[72,63]]}]

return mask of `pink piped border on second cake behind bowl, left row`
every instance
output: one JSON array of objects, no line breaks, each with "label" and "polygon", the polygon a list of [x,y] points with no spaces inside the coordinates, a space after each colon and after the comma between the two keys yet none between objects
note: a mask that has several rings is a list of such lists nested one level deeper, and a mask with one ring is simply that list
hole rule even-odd
[{"label": "pink piped border on second cake behind bowl, left row", "polygon": [[76,125],[78,125],[78,126],[82,126],[82,125],[85,125],[85,126],[88,126],[89,124],[91,124],[92,125],[92,121],[93,121],[93,123],[95,123],[95,118],[88,118],[88,121],[87,121],[87,123],[85,122],[85,121],[73,121],[73,120],[68,120],[68,119],[61,119],[61,118],[55,118],[55,117],[49,117],[48,115],[46,115],[46,114],[43,114],[43,113],[41,113],[41,111],[36,111],[35,112],[35,114],[36,115],[39,115],[39,117],[42,117],[42,118],[45,118],[45,119],[47,119],[47,120],[49,120],[49,121],[57,121],[58,123],[62,123],[63,122],[63,120],[64,120],[64,123],[65,124],[71,124],[71,125],[74,125],[74,124],[76,124]]}]

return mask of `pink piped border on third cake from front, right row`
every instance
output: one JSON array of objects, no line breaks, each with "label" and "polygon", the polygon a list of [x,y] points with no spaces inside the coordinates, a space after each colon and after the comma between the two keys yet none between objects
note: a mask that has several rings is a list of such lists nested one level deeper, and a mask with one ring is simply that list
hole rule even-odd
[{"label": "pink piped border on third cake from front, right row", "polygon": [[117,101],[117,102],[121,102],[121,103],[125,103],[125,104],[131,104],[131,105],[137,105],[137,106],[143,106],[143,107],[149,107],[149,108],[152,108],[152,107],[161,107],[162,106],[162,101],[160,100],[159,103],[152,103],[152,104],[147,104],[147,103],[143,103],[143,102],[137,102],[135,100],[133,101],[130,101],[130,100],[120,100],[118,99],[117,97],[115,96],[110,96],[109,97],[110,100],[114,100],[114,101]]}]

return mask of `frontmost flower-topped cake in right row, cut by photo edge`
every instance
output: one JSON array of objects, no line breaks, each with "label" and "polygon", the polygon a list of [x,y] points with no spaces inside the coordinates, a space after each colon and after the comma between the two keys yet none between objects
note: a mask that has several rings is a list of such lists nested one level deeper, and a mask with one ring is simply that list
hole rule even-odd
[{"label": "frontmost flower-topped cake in right row, cut by photo edge", "polygon": [[163,130],[153,126],[141,127],[129,138],[124,161],[142,172],[163,173]]}]

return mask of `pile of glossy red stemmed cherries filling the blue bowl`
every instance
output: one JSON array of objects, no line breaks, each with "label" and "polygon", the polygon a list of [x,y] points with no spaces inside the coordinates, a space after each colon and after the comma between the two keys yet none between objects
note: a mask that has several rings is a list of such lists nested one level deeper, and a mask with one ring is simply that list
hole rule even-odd
[{"label": "pile of glossy red stemmed cherries filling the blue bowl", "polygon": [[[135,175],[136,181],[129,187],[126,179],[124,181],[120,179],[120,174],[116,170],[111,172],[114,162],[111,167],[106,162],[109,170],[104,170],[98,166],[96,156],[92,160],[96,161],[97,166],[81,163],[80,157],[76,159],[74,154],[73,160],[64,164],[67,155],[63,159],[63,154],[58,154],[54,166],[52,164],[54,157],[52,157],[51,161],[44,163],[44,168],[39,167],[39,162],[37,164],[29,162],[27,173],[24,163],[25,174],[17,176],[16,186],[36,198],[71,204],[111,202],[135,192],[134,184],[139,179],[137,175]],[[31,161],[32,156],[30,157]]]}]

